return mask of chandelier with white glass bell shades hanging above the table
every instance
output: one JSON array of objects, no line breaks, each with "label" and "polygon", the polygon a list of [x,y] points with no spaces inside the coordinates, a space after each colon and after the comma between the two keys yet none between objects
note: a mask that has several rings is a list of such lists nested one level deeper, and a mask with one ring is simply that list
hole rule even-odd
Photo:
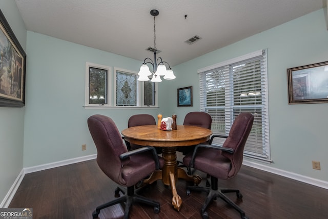
[{"label": "chandelier with white glass bell shades hanging above the table", "polygon": [[[145,58],[144,63],[142,63],[140,67],[140,71],[138,73],[138,81],[149,81],[150,75],[153,74],[151,82],[161,82],[160,76],[163,76],[164,79],[172,80],[175,78],[175,75],[170,67],[170,64],[167,62],[162,61],[161,57],[158,57],[156,59],[156,19],[155,17],[159,14],[159,12],[156,9],[153,9],[150,11],[150,14],[154,16],[154,61],[151,58]],[[153,72],[149,70],[149,67],[147,64],[150,64],[153,66]],[[168,65],[168,68],[166,65]]]}]

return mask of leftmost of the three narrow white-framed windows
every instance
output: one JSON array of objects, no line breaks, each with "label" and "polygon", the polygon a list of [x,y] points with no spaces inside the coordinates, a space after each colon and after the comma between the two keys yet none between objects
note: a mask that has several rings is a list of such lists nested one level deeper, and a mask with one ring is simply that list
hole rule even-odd
[{"label": "leftmost of the three narrow white-framed windows", "polygon": [[111,67],[86,62],[85,106],[110,106]]}]

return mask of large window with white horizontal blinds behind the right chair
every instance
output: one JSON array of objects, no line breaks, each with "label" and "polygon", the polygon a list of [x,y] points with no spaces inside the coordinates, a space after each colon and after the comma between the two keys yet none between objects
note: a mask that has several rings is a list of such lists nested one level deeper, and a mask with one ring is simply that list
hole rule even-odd
[{"label": "large window with white horizontal blinds behind the right chair", "polygon": [[[244,156],[269,161],[267,51],[259,50],[198,70],[200,110],[212,116],[213,134],[228,135],[241,112],[254,115]],[[221,145],[224,139],[215,138]]]}]

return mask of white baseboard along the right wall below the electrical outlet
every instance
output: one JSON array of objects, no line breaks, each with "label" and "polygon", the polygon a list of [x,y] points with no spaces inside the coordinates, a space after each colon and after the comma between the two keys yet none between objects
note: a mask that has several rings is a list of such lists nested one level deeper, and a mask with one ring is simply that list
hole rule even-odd
[{"label": "white baseboard along the right wall below the electrical outlet", "polygon": [[324,189],[328,189],[328,182],[323,181],[323,180],[318,180],[316,178],[311,178],[311,177],[308,177],[308,176],[300,175],[300,174],[297,174],[297,173],[277,169],[277,168],[274,168],[274,167],[269,167],[267,165],[262,165],[262,164],[259,164],[259,163],[246,161],[246,160],[244,160],[242,162],[242,164],[246,165],[246,166],[254,167],[256,169],[260,169],[260,170],[263,170],[263,171],[267,171],[267,172],[270,172],[270,173],[274,173],[274,174],[277,174],[277,175],[292,178],[293,180],[297,180],[297,181],[300,181],[300,182],[303,182],[303,183],[311,184],[313,186],[318,186],[318,187],[321,187],[321,188],[324,188]]}]

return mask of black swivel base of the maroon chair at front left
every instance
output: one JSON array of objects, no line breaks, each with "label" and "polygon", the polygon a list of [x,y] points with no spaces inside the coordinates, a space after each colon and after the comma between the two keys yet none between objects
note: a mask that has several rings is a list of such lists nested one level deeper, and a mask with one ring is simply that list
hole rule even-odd
[{"label": "black swivel base of the maroon chair at front left", "polygon": [[160,205],[158,202],[153,201],[149,198],[143,197],[141,195],[136,194],[136,192],[134,192],[134,187],[128,187],[128,192],[127,194],[125,194],[125,192],[123,190],[121,190],[120,188],[115,189],[115,197],[117,197],[119,194],[119,191],[121,191],[122,193],[124,193],[123,196],[116,198],[115,200],[105,203],[103,205],[100,205],[96,208],[96,210],[92,213],[92,218],[98,218],[98,215],[100,213],[101,209],[116,205],[118,203],[126,203],[125,204],[125,211],[124,211],[124,219],[128,219],[129,218],[129,213],[130,213],[130,208],[131,205],[133,203],[144,203],[144,204],[148,204],[150,206],[154,206],[154,212],[157,214],[160,211]]}]

